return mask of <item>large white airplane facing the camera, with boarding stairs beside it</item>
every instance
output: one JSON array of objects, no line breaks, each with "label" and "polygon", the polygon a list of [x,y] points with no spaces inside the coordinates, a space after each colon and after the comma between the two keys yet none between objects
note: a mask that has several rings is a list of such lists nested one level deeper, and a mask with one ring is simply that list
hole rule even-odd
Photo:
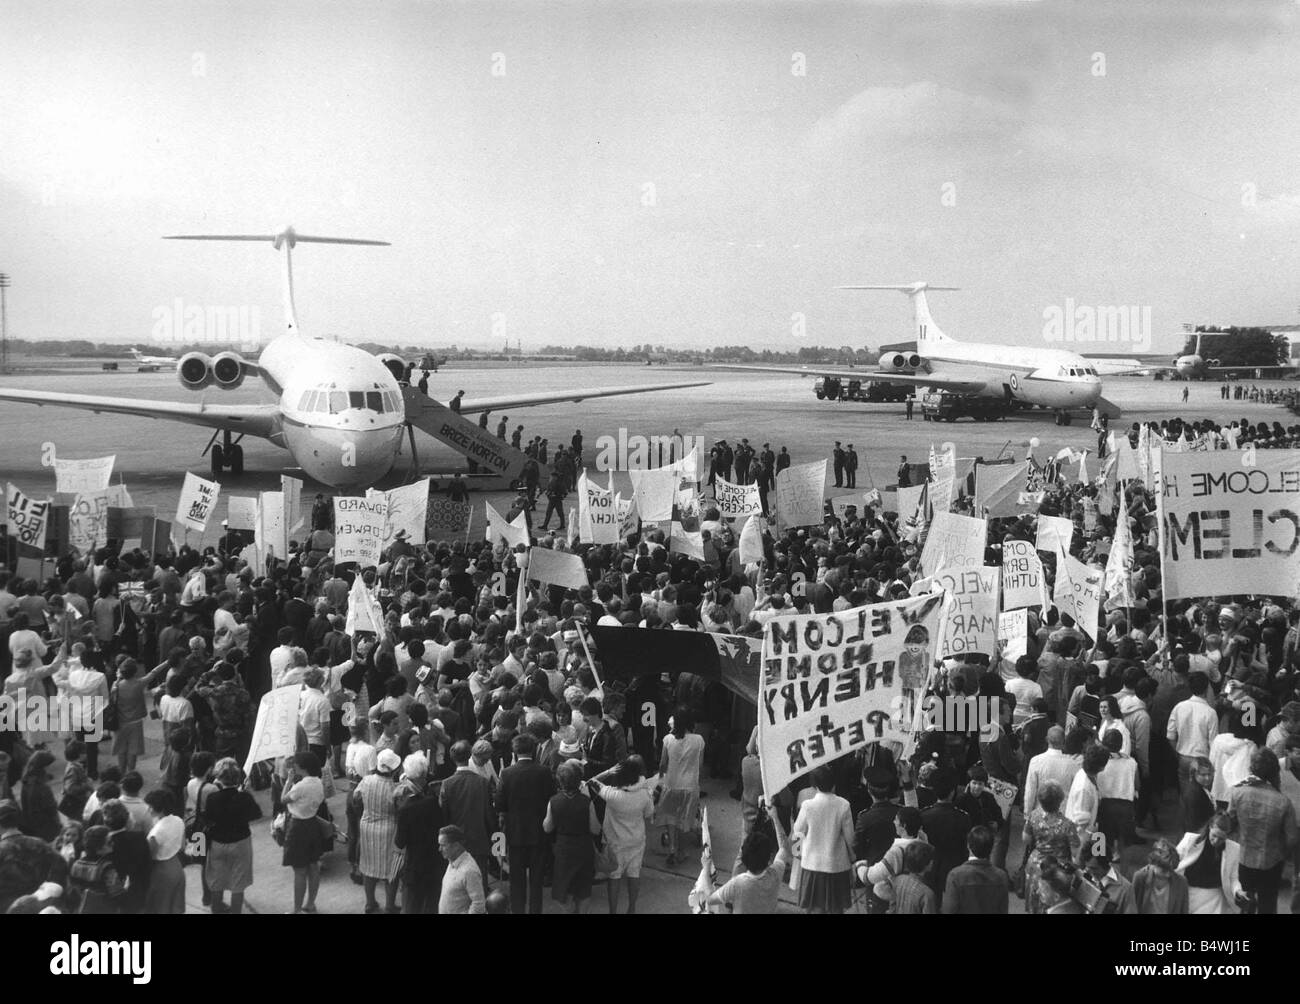
[{"label": "large white airplane facing the camera, with boarding stairs beside it", "polygon": [[[204,399],[191,404],[18,389],[0,389],[0,402],[134,415],[213,429],[209,446],[214,475],[226,468],[234,475],[243,473],[239,440],[244,436],[264,438],[287,450],[309,477],[341,492],[369,488],[389,473],[407,428],[407,414],[402,389],[387,364],[402,360],[395,355],[376,356],[352,345],[304,334],[298,326],[294,307],[292,273],[292,250],[298,244],[386,247],[387,242],[308,237],[291,226],[276,234],[178,234],[165,239],[255,241],[283,251],[285,330],[270,339],[259,359],[252,362],[238,352],[224,351],[212,358],[187,352],[177,360],[177,377],[187,390],[233,390],[247,377],[260,377],[274,395],[274,402],[222,406]],[[705,385],[696,381],[510,394],[465,401],[460,414]],[[231,434],[238,438],[231,441]],[[222,437],[220,445],[217,436]]]}]

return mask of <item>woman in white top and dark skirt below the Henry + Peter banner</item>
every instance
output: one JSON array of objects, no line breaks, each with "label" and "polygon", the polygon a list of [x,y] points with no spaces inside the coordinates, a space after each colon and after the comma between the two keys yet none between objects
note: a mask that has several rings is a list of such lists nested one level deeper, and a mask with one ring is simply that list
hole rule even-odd
[{"label": "woman in white top and dark skirt below the Henry + Peter banner", "polygon": [[853,810],[835,793],[835,771],[812,771],[816,795],[800,808],[790,838],[800,854],[800,906],[809,913],[849,909],[853,869]]}]

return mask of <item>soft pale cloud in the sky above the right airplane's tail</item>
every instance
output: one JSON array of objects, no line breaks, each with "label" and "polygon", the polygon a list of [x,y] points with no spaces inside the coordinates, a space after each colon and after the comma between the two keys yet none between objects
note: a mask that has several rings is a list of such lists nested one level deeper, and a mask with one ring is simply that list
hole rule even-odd
[{"label": "soft pale cloud in the sky above the right airplane's tail", "polygon": [[[822,116],[809,130],[806,144],[814,156],[879,155],[879,140],[974,144],[1005,139],[1019,124],[1020,112],[1010,104],[922,81],[859,91]],[[868,146],[871,150],[864,150]]]}]

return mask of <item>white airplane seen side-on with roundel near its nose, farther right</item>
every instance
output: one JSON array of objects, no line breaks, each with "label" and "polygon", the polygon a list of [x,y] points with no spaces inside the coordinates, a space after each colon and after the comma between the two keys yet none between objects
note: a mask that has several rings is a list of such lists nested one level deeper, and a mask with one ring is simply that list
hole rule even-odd
[{"label": "white airplane seen side-on with roundel near its nose, farther right", "polygon": [[944,334],[930,316],[926,291],[956,290],[956,286],[910,282],[888,286],[840,286],[840,289],[897,290],[906,294],[913,306],[915,350],[890,351],[885,347],[880,352],[878,369],[771,365],[725,368],[835,377],[841,381],[878,380],[980,398],[997,398],[1008,404],[1019,402],[1050,408],[1056,412],[1057,425],[1069,425],[1071,411],[1075,408],[1100,407],[1108,415],[1119,415],[1119,408],[1101,397],[1101,377],[1096,368],[1078,352],[958,342]]}]

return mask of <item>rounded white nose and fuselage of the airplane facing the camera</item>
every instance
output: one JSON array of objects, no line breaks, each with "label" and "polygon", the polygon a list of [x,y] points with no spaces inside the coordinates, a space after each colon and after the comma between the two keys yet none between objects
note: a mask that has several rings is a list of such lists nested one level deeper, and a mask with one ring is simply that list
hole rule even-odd
[{"label": "rounded white nose and fuselage of the airplane facing the camera", "polygon": [[257,365],[280,406],[272,442],[322,484],[360,490],[384,477],[402,441],[398,381],[376,356],[351,345],[281,336]]}]

